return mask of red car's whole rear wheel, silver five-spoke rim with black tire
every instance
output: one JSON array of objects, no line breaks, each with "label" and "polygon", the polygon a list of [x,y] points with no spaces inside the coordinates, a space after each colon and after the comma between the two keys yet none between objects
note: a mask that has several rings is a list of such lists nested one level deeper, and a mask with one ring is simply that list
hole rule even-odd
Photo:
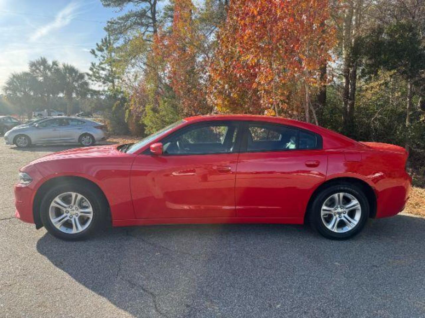
[{"label": "red car's whole rear wheel, silver five-spoke rim with black tire", "polygon": [[309,211],[314,229],[324,237],[344,240],[358,234],[369,217],[369,202],[360,187],[334,184],[320,191]]}]

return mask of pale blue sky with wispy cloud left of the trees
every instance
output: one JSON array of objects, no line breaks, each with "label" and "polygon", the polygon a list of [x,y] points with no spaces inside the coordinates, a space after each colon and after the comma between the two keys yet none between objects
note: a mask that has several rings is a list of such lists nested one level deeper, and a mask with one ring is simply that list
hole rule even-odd
[{"label": "pale blue sky with wispy cloud left of the trees", "polygon": [[0,93],[11,73],[40,56],[88,71],[91,48],[119,14],[100,0],[0,0]]}]

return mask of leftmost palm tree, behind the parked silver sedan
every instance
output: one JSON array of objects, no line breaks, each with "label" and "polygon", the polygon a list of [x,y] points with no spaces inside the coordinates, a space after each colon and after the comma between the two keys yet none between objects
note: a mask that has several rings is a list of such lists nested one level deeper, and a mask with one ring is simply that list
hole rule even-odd
[{"label": "leftmost palm tree, behind the parked silver sedan", "polygon": [[14,101],[20,108],[20,115],[32,116],[36,100],[40,96],[40,83],[29,72],[13,73],[9,76],[3,91],[6,98]]}]

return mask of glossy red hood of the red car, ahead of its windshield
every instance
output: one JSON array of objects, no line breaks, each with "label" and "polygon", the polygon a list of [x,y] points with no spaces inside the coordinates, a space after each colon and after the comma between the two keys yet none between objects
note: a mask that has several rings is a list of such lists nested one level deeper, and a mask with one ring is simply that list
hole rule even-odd
[{"label": "glossy red hood of the red car, ahead of its windshield", "polygon": [[68,149],[64,151],[51,153],[46,156],[42,156],[41,158],[38,158],[32,161],[31,164],[49,161],[49,160],[57,160],[57,159],[114,156],[116,154],[121,153],[116,150],[117,146],[118,145],[107,145],[107,146]]}]

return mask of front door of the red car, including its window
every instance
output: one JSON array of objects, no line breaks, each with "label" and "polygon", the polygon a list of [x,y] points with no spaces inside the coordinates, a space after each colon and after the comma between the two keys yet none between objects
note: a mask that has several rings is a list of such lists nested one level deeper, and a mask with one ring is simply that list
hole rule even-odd
[{"label": "front door of the red car, including its window", "polygon": [[131,172],[137,218],[235,216],[238,124],[202,123],[162,141],[164,155],[139,155]]}]

